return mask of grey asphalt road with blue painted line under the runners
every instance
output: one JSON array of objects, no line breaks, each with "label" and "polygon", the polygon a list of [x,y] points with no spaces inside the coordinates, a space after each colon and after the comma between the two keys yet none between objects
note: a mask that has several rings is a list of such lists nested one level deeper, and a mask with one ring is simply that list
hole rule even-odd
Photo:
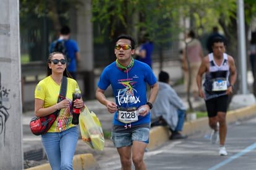
[{"label": "grey asphalt road with blue painted line under the runners", "polygon": [[[246,170],[256,169],[256,118],[228,125],[226,150],[228,156],[218,156],[218,144],[211,144],[205,135],[210,129],[186,140],[168,141],[163,147],[145,153],[148,170]],[[118,155],[99,161],[99,169],[120,169]],[[134,169],[134,168],[133,168]]]}]

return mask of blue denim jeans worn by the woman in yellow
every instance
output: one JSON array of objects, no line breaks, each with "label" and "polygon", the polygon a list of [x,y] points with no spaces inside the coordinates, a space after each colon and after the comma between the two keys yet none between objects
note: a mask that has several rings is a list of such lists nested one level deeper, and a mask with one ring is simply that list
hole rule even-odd
[{"label": "blue denim jeans worn by the woman in yellow", "polygon": [[73,156],[79,132],[77,126],[63,132],[41,135],[49,164],[53,170],[73,169]]}]

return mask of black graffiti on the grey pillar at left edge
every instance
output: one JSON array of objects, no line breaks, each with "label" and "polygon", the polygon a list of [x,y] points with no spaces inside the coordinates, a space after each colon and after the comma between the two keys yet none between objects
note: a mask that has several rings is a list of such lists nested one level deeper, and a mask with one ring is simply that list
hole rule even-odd
[{"label": "black graffiti on the grey pillar at left edge", "polygon": [[5,106],[4,101],[9,101],[10,89],[2,86],[1,83],[1,72],[0,72],[0,145],[4,144],[5,132],[6,132],[6,121],[9,117],[8,110],[10,109]]}]

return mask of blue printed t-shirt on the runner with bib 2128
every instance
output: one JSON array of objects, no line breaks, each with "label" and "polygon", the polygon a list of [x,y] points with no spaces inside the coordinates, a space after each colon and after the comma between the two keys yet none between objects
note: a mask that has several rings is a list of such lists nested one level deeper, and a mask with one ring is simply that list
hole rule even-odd
[{"label": "blue printed t-shirt on the runner with bib 2128", "polygon": [[[106,90],[111,85],[117,106],[138,109],[147,103],[147,83],[151,86],[156,82],[157,79],[147,64],[134,60],[134,66],[129,72],[123,72],[117,68],[115,61],[101,73],[98,87]],[[139,120],[131,124],[143,123],[150,123],[150,114],[144,117],[139,116]],[[117,112],[114,113],[113,124],[125,125],[117,120]]]}]

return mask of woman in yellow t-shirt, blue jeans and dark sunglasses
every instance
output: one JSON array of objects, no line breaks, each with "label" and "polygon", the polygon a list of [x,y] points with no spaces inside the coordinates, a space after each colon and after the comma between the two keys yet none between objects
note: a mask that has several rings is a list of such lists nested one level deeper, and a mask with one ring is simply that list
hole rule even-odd
[{"label": "woman in yellow t-shirt, blue jeans and dark sunglasses", "polygon": [[[54,113],[57,109],[60,111],[48,132],[41,135],[41,141],[53,170],[72,169],[79,131],[77,125],[72,124],[70,108],[72,93],[75,92],[75,88],[79,89],[79,85],[67,72],[67,60],[64,54],[59,52],[49,54],[47,66],[48,76],[35,88],[35,116],[43,117]],[[57,103],[63,76],[67,77],[66,98]],[[82,98],[74,101],[74,106],[83,109]]]}]

